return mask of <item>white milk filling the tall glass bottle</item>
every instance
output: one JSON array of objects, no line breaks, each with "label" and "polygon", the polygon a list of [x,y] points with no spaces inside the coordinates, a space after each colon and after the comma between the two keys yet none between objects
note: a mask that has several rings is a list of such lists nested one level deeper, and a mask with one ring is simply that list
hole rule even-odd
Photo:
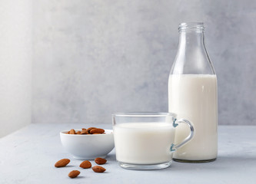
[{"label": "white milk filling the tall glass bottle", "polygon": [[[204,160],[217,157],[217,78],[208,74],[170,75],[169,112],[194,124],[193,139],[174,153],[175,159]],[[188,126],[176,127],[175,143],[190,133]]]}]

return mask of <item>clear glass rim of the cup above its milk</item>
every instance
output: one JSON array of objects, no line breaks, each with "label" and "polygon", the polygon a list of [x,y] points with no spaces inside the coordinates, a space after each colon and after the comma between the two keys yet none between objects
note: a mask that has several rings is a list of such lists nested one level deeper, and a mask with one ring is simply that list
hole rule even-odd
[{"label": "clear glass rim of the cup above its milk", "polygon": [[128,112],[128,113],[113,113],[112,117],[176,117],[176,113],[164,112]]}]

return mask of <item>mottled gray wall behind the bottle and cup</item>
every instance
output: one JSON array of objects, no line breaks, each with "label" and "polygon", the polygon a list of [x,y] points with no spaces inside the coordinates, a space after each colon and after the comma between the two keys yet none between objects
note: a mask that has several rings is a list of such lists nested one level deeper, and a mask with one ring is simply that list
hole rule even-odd
[{"label": "mottled gray wall behind the bottle and cup", "polygon": [[219,124],[256,125],[254,0],[40,0],[33,11],[33,123],[167,111],[178,24],[204,21]]}]

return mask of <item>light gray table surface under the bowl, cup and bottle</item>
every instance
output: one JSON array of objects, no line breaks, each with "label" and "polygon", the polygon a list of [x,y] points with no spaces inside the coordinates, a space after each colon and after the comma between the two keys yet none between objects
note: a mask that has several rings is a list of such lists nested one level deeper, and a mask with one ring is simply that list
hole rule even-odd
[{"label": "light gray table surface under the bowl, cup and bottle", "polygon": [[[114,149],[104,173],[80,169],[81,160],[62,148],[59,131],[82,126],[92,124],[31,124],[0,139],[0,183],[256,183],[256,126],[219,126],[218,159],[212,163],[174,162],[168,169],[127,170],[118,166]],[[55,168],[62,158],[71,159],[69,166]],[[81,171],[76,179],[68,178],[73,169]]]}]

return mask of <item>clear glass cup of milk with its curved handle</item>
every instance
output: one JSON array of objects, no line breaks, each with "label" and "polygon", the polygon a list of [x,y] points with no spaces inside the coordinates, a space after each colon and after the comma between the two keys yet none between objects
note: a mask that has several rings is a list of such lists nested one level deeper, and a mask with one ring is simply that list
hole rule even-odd
[{"label": "clear glass cup of milk with its curved handle", "polygon": [[[112,114],[116,159],[125,169],[164,169],[171,166],[172,154],[194,136],[188,120],[176,119],[175,113]],[[175,144],[175,127],[189,126],[191,132]]]}]

